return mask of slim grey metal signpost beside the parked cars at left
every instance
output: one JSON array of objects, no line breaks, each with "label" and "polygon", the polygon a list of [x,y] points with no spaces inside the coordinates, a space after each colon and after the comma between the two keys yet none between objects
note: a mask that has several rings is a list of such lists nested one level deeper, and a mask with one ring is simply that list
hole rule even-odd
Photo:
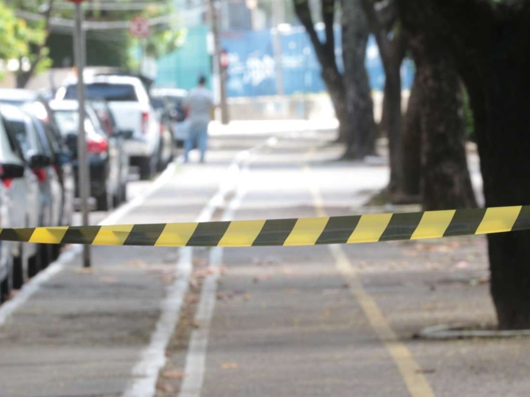
[{"label": "slim grey metal signpost beside the parked cars at left", "polygon": [[[84,59],[83,8],[75,3],[74,55],[77,69],[77,102],[79,104],[79,125],[77,135],[77,161],[79,177],[79,194],[83,226],[89,225],[89,165],[86,158],[85,137],[85,86],[83,84]],[[90,246],[83,246],[83,267],[90,267]]]}]

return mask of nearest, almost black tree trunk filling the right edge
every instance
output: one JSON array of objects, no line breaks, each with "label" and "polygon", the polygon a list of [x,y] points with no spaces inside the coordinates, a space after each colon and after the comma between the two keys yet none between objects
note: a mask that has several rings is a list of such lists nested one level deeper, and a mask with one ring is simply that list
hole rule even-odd
[{"label": "nearest, almost black tree trunk filling the right edge", "polygon": [[[399,0],[407,29],[449,51],[470,96],[487,206],[530,204],[530,2]],[[490,234],[499,328],[530,328],[530,231]]]}]

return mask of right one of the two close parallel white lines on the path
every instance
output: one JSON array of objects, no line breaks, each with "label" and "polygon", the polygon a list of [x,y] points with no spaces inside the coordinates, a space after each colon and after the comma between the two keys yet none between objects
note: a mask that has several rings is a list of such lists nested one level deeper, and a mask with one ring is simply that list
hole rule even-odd
[{"label": "right one of the two close parallel white lines on the path", "polygon": [[[245,162],[242,172],[241,181],[236,188],[236,194],[227,209],[223,212],[222,221],[234,218],[234,214],[241,206],[243,197],[247,192],[248,183],[245,178],[249,174],[249,165],[253,158]],[[202,284],[199,305],[195,321],[199,324],[198,329],[194,329],[190,337],[190,345],[186,354],[184,368],[184,380],[180,388],[179,397],[199,397],[201,394],[202,384],[204,383],[204,374],[206,369],[206,353],[208,348],[208,334],[210,330],[211,319],[214,314],[217,279],[219,278],[219,268],[223,261],[223,248],[214,247],[210,250],[210,268],[213,272],[208,275]]]}]

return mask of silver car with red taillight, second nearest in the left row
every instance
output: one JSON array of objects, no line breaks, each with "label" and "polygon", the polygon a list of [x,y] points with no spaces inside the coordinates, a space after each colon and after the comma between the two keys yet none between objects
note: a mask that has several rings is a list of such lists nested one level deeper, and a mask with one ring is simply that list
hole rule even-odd
[{"label": "silver car with red taillight, second nearest in the left row", "polygon": [[[57,169],[52,164],[51,152],[47,150],[47,140],[42,123],[36,116],[12,105],[0,105],[0,114],[5,128],[22,149],[22,156],[37,176],[39,187],[39,226],[58,226],[63,201],[63,190]],[[38,247],[40,260],[28,267],[28,275],[36,275],[53,259],[49,245]]]}]

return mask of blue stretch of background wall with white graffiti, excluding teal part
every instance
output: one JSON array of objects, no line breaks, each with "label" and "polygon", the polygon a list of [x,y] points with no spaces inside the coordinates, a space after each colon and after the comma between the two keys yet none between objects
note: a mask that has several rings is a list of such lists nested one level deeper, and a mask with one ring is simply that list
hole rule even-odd
[{"label": "blue stretch of background wall with white graffiti, excluding teal part", "polygon": [[[318,32],[322,35],[322,31]],[[342,69],[340,29],[335,30],[335,54]],[[276,67],[273,37],[266,31],[235,31],[223,34],[221,44],[228,51],[228,96],[259,96],[276,94]],[[285,94],[319,93],[325,91],[320,77],[320,65],[312,44],[302,29],[281,34],[282,66]],[[377,44],[370,37],[367,45],[366,68],[370,86],[382,90],[385,75]],[[414,66],[405,60],[402,65],[402,86],[412,85]]]}]

